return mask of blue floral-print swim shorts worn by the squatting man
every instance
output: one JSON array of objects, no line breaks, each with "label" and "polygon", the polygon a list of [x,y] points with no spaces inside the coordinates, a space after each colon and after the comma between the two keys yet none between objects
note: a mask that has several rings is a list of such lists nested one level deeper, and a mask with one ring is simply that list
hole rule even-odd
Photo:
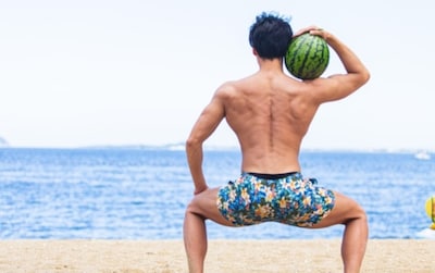
[{"label": "blue floral-print swim shorts worn by the squatting man", "polygon": [[319,187],[316,179],[303,178],[298,172],[243,173],[219,190],[216,203],[221,214],[236,226],[270,221],[312,226],[330,214],[335,196]]}]

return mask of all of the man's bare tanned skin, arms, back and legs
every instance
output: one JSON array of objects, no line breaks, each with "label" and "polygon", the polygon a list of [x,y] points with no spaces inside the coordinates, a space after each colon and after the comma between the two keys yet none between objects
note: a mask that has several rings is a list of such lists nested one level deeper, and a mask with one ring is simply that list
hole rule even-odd
[{"label": "all of the man's bare tanned skin, arms, back and legs", "polygon": [[[358,57],[334,35],[312,26],[295,36],[307,32],[327,41],[347,73],[300,82],[284,73],[282,59],[262,59],[253,49],[259,71],[222,85],[188,137],[186,153],[195,197],[186,210],[184,240],[190,272],[203,272],[207,252],[204,221],[210,219],[222,225],[233,225],[217,210],[219,188],[210,189],[202,172],[202,144],[219,124],[225,119],[238,137],[241,171],[268,174],[300,172],[301,141],[319,107],[349,96],[370,78]],[[344,271],[359,272],[368,239],[365,212],[352,199],[334,193],[334,209],[312,228],[345,224],[341,244]]]}]

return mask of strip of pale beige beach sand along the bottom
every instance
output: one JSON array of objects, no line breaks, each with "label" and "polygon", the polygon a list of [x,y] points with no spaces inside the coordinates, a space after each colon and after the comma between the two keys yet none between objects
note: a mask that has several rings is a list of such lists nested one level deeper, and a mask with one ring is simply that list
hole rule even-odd
[{"label": "strip of pale beige beach sand along the bottom", "polygon": [[[210,240],[206,272],[343,272],[340,240]],[[182,240],[1,240],[0,272],[187,272]],[[362,272],[435,272],[435,240],[372,239]]]}]

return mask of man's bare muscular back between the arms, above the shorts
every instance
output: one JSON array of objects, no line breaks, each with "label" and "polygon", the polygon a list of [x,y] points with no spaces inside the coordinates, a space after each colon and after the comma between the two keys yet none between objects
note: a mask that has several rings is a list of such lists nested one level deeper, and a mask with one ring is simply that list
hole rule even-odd
[{"label": "man's bare muscular back between the arms, above the shorts", "polygon": [[243,151],[243,171],[300,171],[300,144],[318,109],[304,89],[303,83],[276,72],[259,72],[222,87],[225,117]]}]

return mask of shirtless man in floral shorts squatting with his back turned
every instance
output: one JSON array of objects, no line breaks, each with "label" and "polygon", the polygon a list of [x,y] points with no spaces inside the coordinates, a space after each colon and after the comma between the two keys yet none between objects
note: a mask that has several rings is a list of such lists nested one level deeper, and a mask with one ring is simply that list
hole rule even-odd
[{"label": "shirtless man in floral shorts squatting with his back turned", "polygon": [[[326,40],[341,60],[345,74],[301,82],[284,73],[283,57],[291,37],[307,32]],[[365,212],[352,199],[320,187],[315,179],[303,178],[298,157],[319,107],[352,94],[370,74],[331,33],[308,27],[295,36],[286,20],[268,13],[258,15],[249,41],[259,71],[219,87],[186,141],[195,184],[184,222],[190,272],[203,271],[208,219],[226,226],[265,221],[308,228],[344,224],[345,272],[360,270],[368,240]],[[222,188],[209,188],[202,172],[202,144],[224,119],[239,140],[241,175]]]}]

